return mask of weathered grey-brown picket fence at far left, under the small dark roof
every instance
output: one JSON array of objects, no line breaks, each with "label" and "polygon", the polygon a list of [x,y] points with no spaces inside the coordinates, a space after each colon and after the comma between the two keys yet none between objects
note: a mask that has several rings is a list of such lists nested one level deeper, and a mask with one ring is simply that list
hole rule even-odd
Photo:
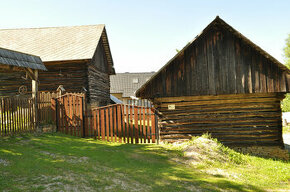
[{"label": "weathered grey-brown picket fence at far left, under the small dark roof", "polygon": [[19,96],[0,98],[0,136],[34,130],[31,98]]}]

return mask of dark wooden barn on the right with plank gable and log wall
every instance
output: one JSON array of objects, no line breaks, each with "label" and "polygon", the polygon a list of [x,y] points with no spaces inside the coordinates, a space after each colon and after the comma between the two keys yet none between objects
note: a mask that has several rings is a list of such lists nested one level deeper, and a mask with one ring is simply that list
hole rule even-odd
[{"label": "dark wooden barn on the right with plank gable and log wall", "polygon": [[283,146],[289,70],[219,17],[138,91],[161,114],[162,140],[209,132],[232,146]]}]

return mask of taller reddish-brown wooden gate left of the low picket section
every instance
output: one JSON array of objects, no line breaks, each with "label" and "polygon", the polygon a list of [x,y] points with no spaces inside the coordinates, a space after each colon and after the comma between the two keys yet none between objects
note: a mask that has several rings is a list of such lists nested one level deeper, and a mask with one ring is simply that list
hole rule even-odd
[{"label": "taller reddish-brown wooden gate left of the low picket section", "polygon": [[85,96],[79,93],[66,93],[51,100],[55,111],[57,131],[73,136],[84,137]]}]

